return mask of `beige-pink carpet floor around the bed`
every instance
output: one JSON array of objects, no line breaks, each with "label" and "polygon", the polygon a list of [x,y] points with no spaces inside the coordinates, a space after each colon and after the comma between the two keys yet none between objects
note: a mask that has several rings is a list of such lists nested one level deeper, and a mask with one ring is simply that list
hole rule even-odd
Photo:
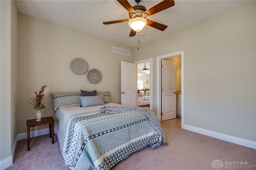
[{"label": "beige-pink carpet floor around the bed", "polygon": [[[256,150],[161,122],[168,146],[147,146],[118,162],[111,170],[252,170]],[[57,136],[19,140],[13,164],[6,170],[69,170],[64,165]]]}]

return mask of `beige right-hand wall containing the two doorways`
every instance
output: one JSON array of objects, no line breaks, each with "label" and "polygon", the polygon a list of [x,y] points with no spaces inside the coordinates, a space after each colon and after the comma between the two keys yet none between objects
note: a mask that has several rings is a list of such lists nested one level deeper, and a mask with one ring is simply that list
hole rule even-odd
[{"label": "beige right-hand wall containing the two doorways", "polygon": [[251,2],[134,48],[154,70],[157,56],[184,50],[184,124],[256,141],[255,11]]}]

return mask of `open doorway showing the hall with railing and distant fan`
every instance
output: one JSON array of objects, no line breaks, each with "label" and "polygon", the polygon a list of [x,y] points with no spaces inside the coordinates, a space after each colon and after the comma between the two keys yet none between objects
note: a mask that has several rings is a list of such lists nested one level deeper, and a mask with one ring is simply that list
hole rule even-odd
[{"label": "open doorway showing the hall with railing and distant fan", "polygon": [[137,64],[137,104],[141,107],[151,108],[152,100],[150,99],[152,99],[152,93],[150,93],[150,91],[152,90],[152,58],[136,61],[134,63]]}]

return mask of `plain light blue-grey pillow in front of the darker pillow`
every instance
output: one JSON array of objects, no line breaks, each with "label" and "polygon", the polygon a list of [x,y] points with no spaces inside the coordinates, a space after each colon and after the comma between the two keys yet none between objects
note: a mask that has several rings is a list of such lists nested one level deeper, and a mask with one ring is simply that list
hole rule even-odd
[{"label": "plain light blue-grey pillow in front of the darker pillow", "polygon": [[105,105],[102,96],[80,96],[82,107]]}]

